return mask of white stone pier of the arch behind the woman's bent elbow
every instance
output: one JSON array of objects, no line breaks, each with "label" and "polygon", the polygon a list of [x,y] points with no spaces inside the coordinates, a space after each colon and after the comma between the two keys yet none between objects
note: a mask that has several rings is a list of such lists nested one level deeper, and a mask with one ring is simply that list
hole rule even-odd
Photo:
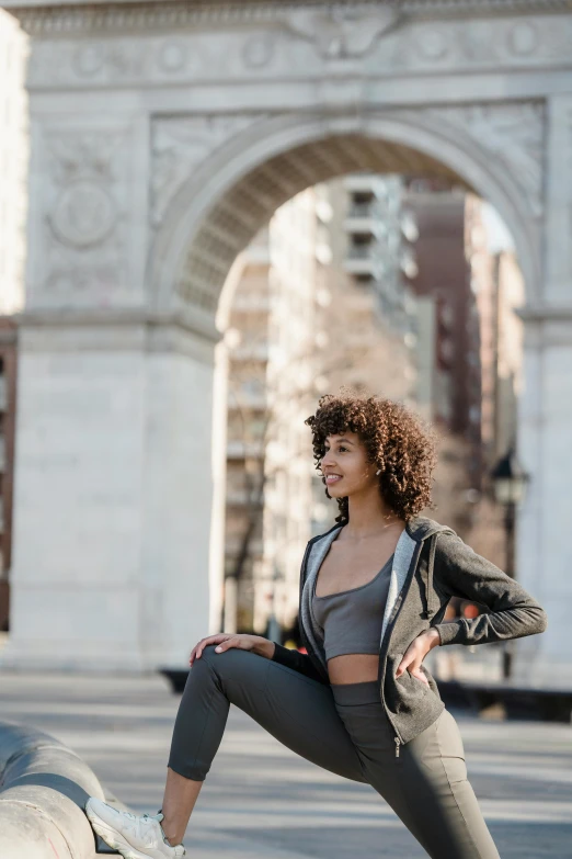
[{"label": "white stone pier of the arch behind the woman's bent elbow", "polygon": [[548,612],[518,642],[516,677],[572,687],[572,94],[547,100],[545,281],[525,323],[520,456],[531,482],[517,530],[518,578]]}]

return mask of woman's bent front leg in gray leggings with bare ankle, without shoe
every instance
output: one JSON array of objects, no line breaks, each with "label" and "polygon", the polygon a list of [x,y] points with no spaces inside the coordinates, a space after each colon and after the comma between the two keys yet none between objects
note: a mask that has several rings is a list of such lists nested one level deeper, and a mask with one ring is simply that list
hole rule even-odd
[{"label": "woman's bent front leg in gray leggings with bare ankle, without shoe", "polygon": [[172,844],[184,836],[231,703],[312,764],[366,781],[329,686],[250,651],[208,645],[188,674],[173,730],[168,766],[180,778],[168,779],[162,806]]}]

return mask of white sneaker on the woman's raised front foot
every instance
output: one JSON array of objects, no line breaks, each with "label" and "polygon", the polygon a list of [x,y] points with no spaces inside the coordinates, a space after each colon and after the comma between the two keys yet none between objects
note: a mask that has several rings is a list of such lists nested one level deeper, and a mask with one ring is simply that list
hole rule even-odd
[{"label": "white sneaker on the woman's raised front foot", "polygon": [[182,844],[171,847],[164,837],[161,812],[139,817],[90,796],[85,814],[105,844],[118,850],[125,859],[179,859],[186,856]]}]

